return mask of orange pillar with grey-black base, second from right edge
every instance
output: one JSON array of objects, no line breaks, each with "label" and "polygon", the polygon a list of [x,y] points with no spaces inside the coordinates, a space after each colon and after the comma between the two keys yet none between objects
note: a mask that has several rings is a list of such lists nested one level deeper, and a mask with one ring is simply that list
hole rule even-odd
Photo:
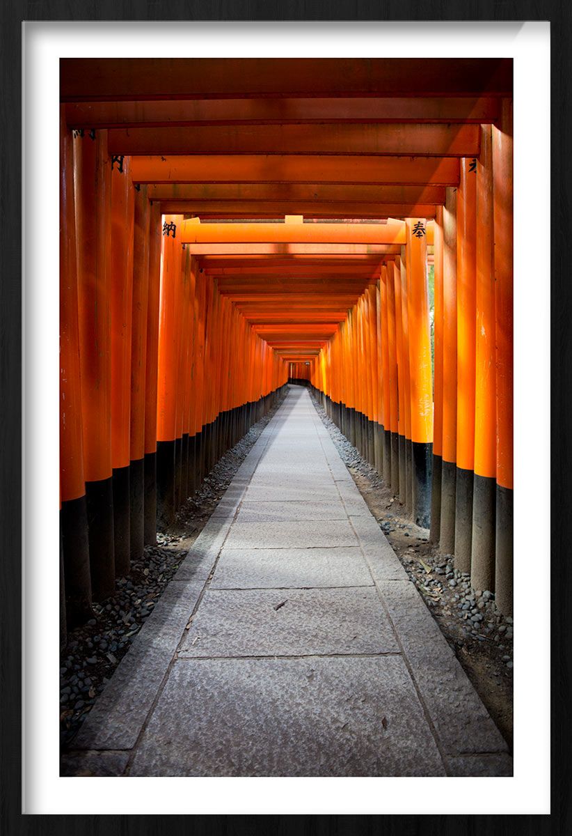
[{"label": "orange pillar with grey-black base, second from right edge", "polygon": [[496,381],[494,358],[493,157],[490,125],[481,126],[477,166],[477,288],[474,414],[473,589],[494,589]]}]

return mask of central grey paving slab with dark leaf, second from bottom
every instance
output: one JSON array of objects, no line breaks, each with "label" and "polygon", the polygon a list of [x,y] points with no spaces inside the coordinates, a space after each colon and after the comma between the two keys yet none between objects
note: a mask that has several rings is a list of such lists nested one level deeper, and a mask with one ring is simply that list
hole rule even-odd
[{"label": "central grey paving slab with dark leaf, second from bottom", "polygon": [[397,653],[374,587],[209,589],[179,656]]}]

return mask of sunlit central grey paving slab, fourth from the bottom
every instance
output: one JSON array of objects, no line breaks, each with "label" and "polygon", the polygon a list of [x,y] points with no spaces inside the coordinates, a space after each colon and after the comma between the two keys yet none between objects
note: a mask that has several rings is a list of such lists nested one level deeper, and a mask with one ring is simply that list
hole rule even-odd
[{"label": "sunlit central grey paving slab, fourth from the bottom", "polygon": [[357,546],[345,520],[300,520],[286,523],[233,523],[226,548],[336,548]]}]

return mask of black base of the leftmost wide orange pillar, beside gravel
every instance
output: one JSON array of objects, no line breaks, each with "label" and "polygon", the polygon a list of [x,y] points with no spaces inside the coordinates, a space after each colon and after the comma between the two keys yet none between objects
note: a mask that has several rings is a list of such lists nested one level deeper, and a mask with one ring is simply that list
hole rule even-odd
[{"label": "black base of the leftmost wide orange pillar, beside gravel", "polygon": [[62,502],[59,512],[66,614],[71,628],[92,618],[88,511],[85,497]]}]

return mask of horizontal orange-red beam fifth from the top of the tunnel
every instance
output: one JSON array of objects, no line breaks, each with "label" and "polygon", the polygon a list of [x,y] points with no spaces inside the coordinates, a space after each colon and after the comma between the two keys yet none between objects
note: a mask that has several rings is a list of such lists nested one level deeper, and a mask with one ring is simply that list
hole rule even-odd
[{"label": "horizontal orange-red beam fifth from the top of the tunnel", "polygon": [[247,203],[302,201],[328,203],[435,203],[445,202],[445,186],[394,183],[160,183],[149,185],[153,201],[236,201]]}]

